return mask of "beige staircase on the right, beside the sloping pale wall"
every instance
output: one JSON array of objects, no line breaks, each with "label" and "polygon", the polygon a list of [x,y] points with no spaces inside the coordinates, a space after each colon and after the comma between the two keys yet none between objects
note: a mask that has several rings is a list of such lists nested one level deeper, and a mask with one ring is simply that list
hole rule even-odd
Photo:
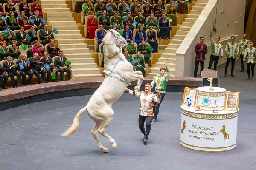
[{"label": "beige staircase on the right, beside the sloping pale wall", "polygon": [[187,14],[185,21],[179,26],[179,30],[176,31],[174,37],[171,38],[170,43],[168,44],[165,52],[161,54],[161,57],[158,58],[154,68],[151,68],[151,72],[148,74],[149,77],[159,74],[160,68],[164,67],[164,62],[167,61],[168,67],[170,69],[170,74],[172,77],[175,77],[175,60],[176,60],[176,51],[180,47],[180,44],[183,42],[184,38],[188,34],[190,28],[197,20],[198,16],[203,11],[204,6],[206,6],[208,0],[197,0],[195,6],[192,7],[192,10]]}]

